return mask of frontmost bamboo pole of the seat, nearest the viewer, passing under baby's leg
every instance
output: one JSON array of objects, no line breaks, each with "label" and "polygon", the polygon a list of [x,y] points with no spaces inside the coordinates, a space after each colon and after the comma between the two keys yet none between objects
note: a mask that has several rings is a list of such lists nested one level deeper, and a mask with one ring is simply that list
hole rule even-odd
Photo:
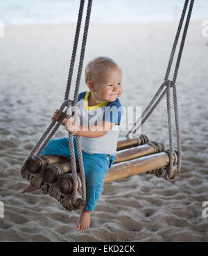
[{"label": "frontmost bamboo pole of the seat, nearest the viewer, passing under baby's leg", "polygon": [[[174,164],[176,164],[177,154],[174,152],[173,156]],[[104,183],[113,182],[117,179],[124,179],[133,175],[166,167],[168,166],[168,163],[169,157],[167,152],[150,154],[146,157],[140,157],[139,159],[116,163],[107,172]],[[66,175],[60,177],[57,186],[62,193],[71,193],[73,190],[72,177],[66,177]]]}]

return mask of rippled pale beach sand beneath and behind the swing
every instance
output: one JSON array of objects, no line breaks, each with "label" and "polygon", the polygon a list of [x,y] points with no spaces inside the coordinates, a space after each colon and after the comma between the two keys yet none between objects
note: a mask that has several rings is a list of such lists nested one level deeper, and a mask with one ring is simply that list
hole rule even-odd
[{"label": "rippled pale beach sand beneath and behind the swing", "polygon": [[[144,109],[164,81],[176,29],[175,22],[91,24],[84,65],[100,55],[114,58],[123,70],[123,106]],[[202,217],[208,201],[208,38],[200,21],[190,24],[177,79],[183,151],[177,181],[137,175],[105,184],[87,232],[75,230],[78,211],[63,211],[41,191],[20,193],[28,182],[19,168],[63,102],[74,32],[74,24],[8,26],[0,38],[0,241],[208,241],[208,218]],[[163,99],[142,133],[168,148],[166,124]],[[61,136],[67,136],[63,127],[53,138]]]}]

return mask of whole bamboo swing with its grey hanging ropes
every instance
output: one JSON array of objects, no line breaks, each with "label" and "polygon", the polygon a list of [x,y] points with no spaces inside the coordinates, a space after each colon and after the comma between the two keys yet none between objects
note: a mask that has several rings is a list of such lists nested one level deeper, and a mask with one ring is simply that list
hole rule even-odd
[{"label": "whole bamboo swing with its grey hanging ropes", "polygon": [[[69,68],[69,77],[67,80],[67,89],[64,97],[64,102],[59,109],[58,121],[52,121],[49,127],[46,128],[44,134],[39,141],[34,145],[31,152],[24,160],[21,166],[20,173],[24,179],[28,181],[38,189],[42,190],[44,194],[49,194],[58,202],[62,204],[67,210],[83,209],[85,206],[86,187],[85,187],[85,172],[83,168],[83,158],[80,146],[80,138],[77,138],[78,147],[78,161],[76,161],[73,148],[73,137],[69,133],[69,147],[71,152],[71,159],[64,159],[54,155],[42,156],[40,153],[44,149],[45,145],[49,142],[62,120],[66,117],[67,111],[64,108],[70,109],[71,106],[75,106],[78,99],[78,89],[80,86],[80,77],[83,69],[83,59],[85,55],[85,45],[87,41],[87,31],[89,27],[89,17],[91,13],[92,0],[88,0],[87,15],[85,20],[85,29],[83,33],[83,43],[81,47],[80,63],[78,67],[78,76],[76,80],[76,88],[74,92],[73,101],[69,100],[69,90],[71,87],[71,78],[73,74],[73,66],[76,58],[76,51],[78,47],[78,37],[80,33],[80,25],[83,16],[85,0],[80,0],[80,9],[78,14],[78,22],[76,26],[76,35],[73,43],[73,51],[71,56],[71,63]],[[159,87],[157,93],[151,100],[150,104],[146,107],[141,114],[141,118],[137,120],[135,125],[128,131],[126,138],[121,138],[117,142],[116,159],[114,164],[107,172],[104,183],[114,182],[117,179],[123,179],[131,177],[140,173],[154,174],[157,177],[163,177],[168,181],[177,179],[180,174],[181,167],[181,142],[179,122],[177,116],[177,95],[175,82],[177,79],[177,72],[180,66],[180,60],[182,57],[182,51],[184,47],[184,41],[186,39],[187,30],[189,26],[189,20],[191,17],[191,11],[193,8],[194,0],[190,0],[189,11],[187,20],[184,26],[184,32],[180,44],[180,50],[177,56],[177,62],[175,65],[175,71],[173,74],[173,81],[168,80],[168,76],[171,71],[173,63],[173,57],[177,46],[178,38],[184,22],[184,16],[187,11],[189,0],[185,0],[182,15],[173,42],[173,48],[171,56],[168,61],[168,68],[166,71],[164,83]],[[173,103],[175,113],[175,129],[177,134],[177,150],[173,149],[173,132],[171,125],[171,100],[170,90],[173,88]],[[144,134],[137,134],[137,131],[141,125],[148,119],[150,114],[154,111],[156,106],[166,95],[167,99],[167,114],[168,114],[168,134],[169,134],[169,150],[165,150],[164,145],[158,141],[149,141],[148,137]],[[76,119],[76,115],[74,116]],[[36,154],[35,154],[36,152]]]}]

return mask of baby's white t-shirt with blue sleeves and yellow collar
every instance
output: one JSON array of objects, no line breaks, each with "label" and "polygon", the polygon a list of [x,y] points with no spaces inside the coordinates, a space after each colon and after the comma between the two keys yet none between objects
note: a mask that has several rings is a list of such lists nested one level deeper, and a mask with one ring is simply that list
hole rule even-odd
[{"label": "baby's white t-shirt with blue sleeves and yellow collar", "polygon": [[78,111],[80,112],[80,125],[90,127],[105,120],[115,123],[114,127],[107,134],[88,138],[81,136],[82,150],[89,154],[115,154],[117,140],[119,138],[121,116],[123,109],[119,99],[114,102],[101,102],[96,106],[88,106],[90,91],[85,91],[78,95]]}]

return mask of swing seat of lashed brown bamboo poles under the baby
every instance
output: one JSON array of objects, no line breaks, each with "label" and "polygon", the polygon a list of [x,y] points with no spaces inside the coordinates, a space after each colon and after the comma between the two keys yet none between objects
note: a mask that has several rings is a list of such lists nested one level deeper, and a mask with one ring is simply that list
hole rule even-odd
[{"label": "swing seat of lashed brown bamboo poles under the baby", "polygon": [[[177,163],[177,152],[173,154],[174,165]],[[175,180],[178,173],[174,168],[173,175],[167,178],[166,167],[169,163],[168,152],[159,141],[151,141],[146,135],[139,138],[121,138],[117,143],[114,164],[107,172],[104,183],[114,182],[140,173],[155,174],[157,177]],[[49,194],[69,210],[83,209],[85,201],[80,195],[82,182],[77,175],[78,198],[72,205],[73,177],[71,161],[58,156],[34,156],[26,163],[23,177],[44,194]],[[78,167],[78,166],[77,166]]]}]

